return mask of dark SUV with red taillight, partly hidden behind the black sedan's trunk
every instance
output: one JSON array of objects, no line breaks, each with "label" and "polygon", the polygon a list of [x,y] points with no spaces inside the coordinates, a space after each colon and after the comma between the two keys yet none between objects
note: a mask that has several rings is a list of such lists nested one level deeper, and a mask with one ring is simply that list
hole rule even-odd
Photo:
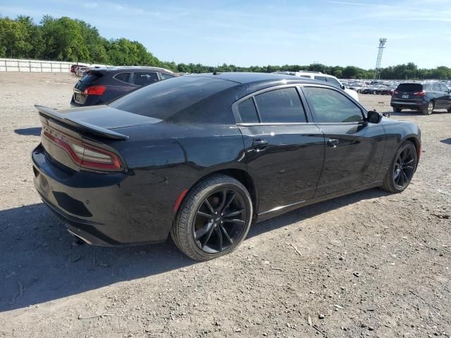
[{"label": "dark SUV with red taillight, partly hidden behind the black sedan's trunk", "polygon": [[70,106],[108,104],[132,90],[176,76],[171,70],[155,67],[93,68],[73,87]]}]

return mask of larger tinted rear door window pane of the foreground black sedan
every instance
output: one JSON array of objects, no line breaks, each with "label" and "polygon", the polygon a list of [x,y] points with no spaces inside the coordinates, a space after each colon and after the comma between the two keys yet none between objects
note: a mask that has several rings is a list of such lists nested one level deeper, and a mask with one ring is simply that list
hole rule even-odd
[{"label": "larger tinted rear door window pane of the foreground black sedan", "polygon": [[307,122],[296,88],[283,88],[255,96],[262,123]]}]

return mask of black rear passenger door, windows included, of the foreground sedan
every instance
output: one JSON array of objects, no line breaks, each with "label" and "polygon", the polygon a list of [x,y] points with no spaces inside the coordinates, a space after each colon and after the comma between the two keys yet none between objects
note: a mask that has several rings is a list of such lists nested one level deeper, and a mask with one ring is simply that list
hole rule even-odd
[{"label": "black rear passenger door, windows included, of the foreground sedan", "polygon": [[311,199],[324,157],[323,133],[307,120],[297,87],[264,89],[237,101],[247,170],[259,192],[259,213]]}]

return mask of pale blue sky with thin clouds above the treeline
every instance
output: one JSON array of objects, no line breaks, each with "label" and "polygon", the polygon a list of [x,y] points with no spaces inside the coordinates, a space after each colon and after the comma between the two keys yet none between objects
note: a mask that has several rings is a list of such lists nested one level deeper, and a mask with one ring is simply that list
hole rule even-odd
[{"label": "pale blue sky with thin clouds above the treeline", "polygon": [[451,67],[451,0],[1,0],[0,15],[78,18],[162,61]]}]

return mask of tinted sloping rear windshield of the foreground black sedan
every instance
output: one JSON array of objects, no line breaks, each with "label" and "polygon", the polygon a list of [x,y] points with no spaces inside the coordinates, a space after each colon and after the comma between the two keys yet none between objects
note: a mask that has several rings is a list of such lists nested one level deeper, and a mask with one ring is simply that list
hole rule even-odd
[{"label": "tinted sloping rear windshield of the foreground black sedan", "polygon": [[129,113],[167,120],[185,108],[235,84],[212,77],[174,77],[171,81],[156,82],[152,86],[131,92],[109,106]]}]

